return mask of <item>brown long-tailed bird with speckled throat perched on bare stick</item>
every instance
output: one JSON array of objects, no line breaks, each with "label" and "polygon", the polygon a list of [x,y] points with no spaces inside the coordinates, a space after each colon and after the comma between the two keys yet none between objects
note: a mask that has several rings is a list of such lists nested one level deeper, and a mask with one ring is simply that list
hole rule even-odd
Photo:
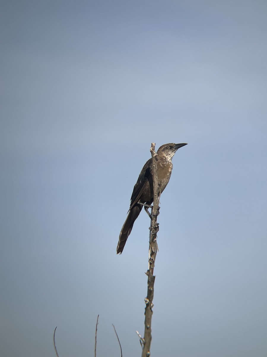
[{"label": "brown long-tailed bird with speckled throat perched on bare stick", "polygon": [[[169,179],[172,173],[172,158],[176,151],[187,145],[185,143],[182,144],[164,144],[159,147],[156,155],[156,163],[157,163],[157,174],[158,174],[158,196],[161,195],[163,190],[166,188]],[[124,225],[121,228],[119,242],[117,245],[117,254],[121,254],[127,238],[129,237],[133,223],[136,218],[139,216],[143,205],[151,205],[153,202],[153,177],[152,177],[152,158],[149,159],[144,165],[143,169],[140,172],[138,180],[133,187],[131,203],[129,211],[127,212],[127,218],[124,222]],[[143,204],[141,204],[143,203]],[[145,207],[146,209],[146,207]]]}]

